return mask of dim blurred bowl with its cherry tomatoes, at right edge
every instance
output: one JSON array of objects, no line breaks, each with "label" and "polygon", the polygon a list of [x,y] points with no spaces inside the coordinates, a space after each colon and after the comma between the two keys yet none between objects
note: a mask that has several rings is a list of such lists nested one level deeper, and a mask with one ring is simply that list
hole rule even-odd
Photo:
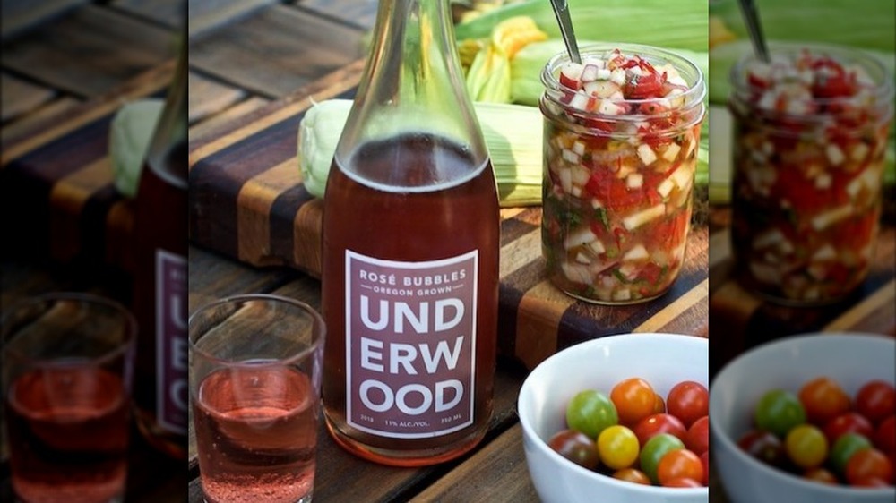
[{"label": "dim blurred bowl with its cherry tomatoes, at right edge", "polygon": [[734,503],[896,501],[896,339],[785,337],[710,387],[711,455]]}]

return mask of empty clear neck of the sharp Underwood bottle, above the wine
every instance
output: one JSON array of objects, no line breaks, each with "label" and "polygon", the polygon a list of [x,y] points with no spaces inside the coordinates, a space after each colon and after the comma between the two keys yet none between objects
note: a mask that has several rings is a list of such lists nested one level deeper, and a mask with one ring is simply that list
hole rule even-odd
[{"label": "empty clear neck of the sharp Underwood bottle, above the wine", "polygon": [[448,0],[383,0],[337,156],[366,141],[429,133],[487,150],[467,95]]}]

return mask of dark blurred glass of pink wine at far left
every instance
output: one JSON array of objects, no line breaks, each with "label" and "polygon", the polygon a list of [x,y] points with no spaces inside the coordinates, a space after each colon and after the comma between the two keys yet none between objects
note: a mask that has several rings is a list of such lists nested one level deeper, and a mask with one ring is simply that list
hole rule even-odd
[{"label": "dark blurred glass of pink wine at far left", "polygon": [[118,303],[75,293],[4,311],[5,423],[17,498],[122,501],[134,317]]}]

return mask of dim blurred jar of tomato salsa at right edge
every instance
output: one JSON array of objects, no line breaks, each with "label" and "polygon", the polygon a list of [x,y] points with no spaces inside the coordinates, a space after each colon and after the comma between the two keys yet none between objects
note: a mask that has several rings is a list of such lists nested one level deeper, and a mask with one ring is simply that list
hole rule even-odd
[{"label": "dim blurred jar of tomato salsa at right edge", "polygon": [[874,257],[892,80],[872,56],[779,47],[731,73],[737,277],[779,303],[836,302]]}]

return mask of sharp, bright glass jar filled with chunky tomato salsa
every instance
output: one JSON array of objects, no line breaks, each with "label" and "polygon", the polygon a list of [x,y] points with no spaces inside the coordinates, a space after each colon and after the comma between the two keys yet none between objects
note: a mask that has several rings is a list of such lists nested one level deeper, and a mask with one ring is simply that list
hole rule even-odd
[{"label": "sharp, bright glass jar filled with chunky tomato salsa", "polygon": [[581,70],[561,53],[541,74],[547,276],[590,303],[646,302],[685,259],[703,75],[630,44],[583,47]]}]

